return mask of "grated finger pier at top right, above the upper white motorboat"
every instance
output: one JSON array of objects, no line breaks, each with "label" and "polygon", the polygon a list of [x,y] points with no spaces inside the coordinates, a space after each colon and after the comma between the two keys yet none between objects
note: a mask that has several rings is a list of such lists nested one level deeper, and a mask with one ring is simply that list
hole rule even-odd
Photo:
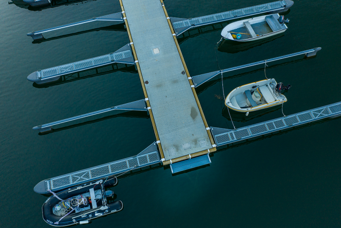
[{"label": "grated finger pier at top right, above the upper white motorboat", "polygon": [[233,20],[244,16],[256,15],[271,11],[278,11],[281,9],[285,9],[286,6],[287,6],[286,1],[277,1],[258,6],[226,11],[222,13],[215,13],[207,16],[195,17],[191,19],[171,17],[171,21],[176,35],[180,35],[181,33],[185,32],[190,28]]}]

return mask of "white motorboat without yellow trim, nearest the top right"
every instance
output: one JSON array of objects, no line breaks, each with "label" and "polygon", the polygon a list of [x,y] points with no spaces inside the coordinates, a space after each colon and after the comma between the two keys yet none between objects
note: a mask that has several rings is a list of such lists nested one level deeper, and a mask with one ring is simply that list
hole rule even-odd
[{"label": "white motorboat without yellow trim, nearest the top right", "polygon": [[256,41],[285,32],[288,29],[285,23],[288,22],[278,13],[258,16],[227,25],[221,36],[237,42]]}]

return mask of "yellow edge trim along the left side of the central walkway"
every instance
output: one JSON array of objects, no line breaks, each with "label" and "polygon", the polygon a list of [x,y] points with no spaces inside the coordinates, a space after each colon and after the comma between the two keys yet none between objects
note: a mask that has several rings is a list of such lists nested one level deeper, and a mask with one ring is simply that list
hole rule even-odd
[{"label": "yellow edge trim along the left side of the central walkway", "polygon": [[[124,12],[124,7],[123,7],[122,0],[119,0],[119,1],[120,1],[123,17],[126,17],[125,12]],[[130,44],[131,50],[132,50],[132,54],[134,55],[135,60],[138,60],[137,59],[137,54],[136,54],[136,51],[135,51],[135,47],[134,47],[134,43],[132,42],[132,37],[131,37],[131,33],[130,33],[130,29],[129,29],[129,25],[128,25],[127,19],[124,20],[124,23],[125,23],[125,26],[127,27],[129,41],[130,41],[130,43],[132,43],[132,44]],[[136,67],[137,67],[137,70],[139,72],[139,77],[140,77],[140,81],[141,81],[141,85],[142,85],[142,89],[143,89],[144,98],[148,98],[147,90],[146,90],[146,87],[144,86],[144,81],[143,81],[143,77],[142,77],[142,73],[141,73],[141,69],[140,69],[140,64],[138,62],[136,63]],[[150,107],[149,101],[146,101],[146,103],[147,103],[147,107]],[[151,111],[151,109],[148,109],[148,111],[149,111],[149,115],[150,115],[151,124],[153,125],[156,141],[160,141],[158,130],[156,128],[156,124],[155,124],[155,120],[154,120],[154,116],[153,116],[153,112]],[[160,150],[161,159],[164,159],[161,143],[158,143],[158,147],[159,147],[159,150]]]}]

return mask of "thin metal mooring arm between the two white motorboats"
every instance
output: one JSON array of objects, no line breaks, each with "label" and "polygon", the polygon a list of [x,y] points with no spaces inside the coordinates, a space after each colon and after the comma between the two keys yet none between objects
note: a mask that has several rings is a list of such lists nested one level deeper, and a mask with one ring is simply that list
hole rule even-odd
[{"label": "thin metal mooring arm between the two white motorboats", "polygon": [[195,87],[198,87],[199,85],[202,85],[203,83],[209,81],[210,79],[214,78],[216,75],[218,75],[220,73],[225,73],[225,72],[229,72],[229,71],[233,71],[233,70],[239,70],[242,68],[256,66],[256,65],[260,65],[260,64],[265,64],[265,63],[269,63],[269,62],[273,62],[273,61],[277,61],[277,60],[287,59],[287,58],[297,56],[300,54],[305,54],[305,56],[310,58],[312,56],[315,56],[317,51],[319,51],[319,50],[321,50],[321,48],[317,47],[317,48],[313,48],[313,49],[309,49],[309,50],[305,50],[305,51],[295,52],[292,54],[282,55],[282,56],[272,58],[272,59],[268,59],[268,60],[262,60],[262,61],[249,63],[249,64],[237,66],[237,67],[231,67],[231,68],[224,69],[224,70],[217,70],[217,71],[210,72],[210,73],[204,73],[204,74],[196,75],[196,76],[192,77],[192,82],[195,85]]}]

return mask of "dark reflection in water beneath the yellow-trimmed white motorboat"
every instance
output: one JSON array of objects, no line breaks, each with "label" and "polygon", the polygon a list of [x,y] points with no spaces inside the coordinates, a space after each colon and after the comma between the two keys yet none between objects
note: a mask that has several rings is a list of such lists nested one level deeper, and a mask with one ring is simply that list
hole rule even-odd
[{"label": "dark reflection in water beneath the yellow-trimmed white motorboat", "polygon": [[[266,108],[266,109],[261,109],[261,110],[258,110],[258,111],[250,112],[249,116],[245,116],[245,113],[243,113],[243,112],[238,112],[238,111],[230,109],[230,114],[231,114],[231,118],[232,118],[233,121],[243,122],[244,123],[244,122],[247,122],[249,120],[255,119],[257,117],[261,117],[261,116],[266,115],[268,113],[277,111],[277,110],[279,110],[281,108],[282,108],[281,105],[276,105],[276,106],[273,106],[273,107],[270,107],[270,108]],[[222,116],[231,121],[228,107],[225,106],[222,109]]]}]

